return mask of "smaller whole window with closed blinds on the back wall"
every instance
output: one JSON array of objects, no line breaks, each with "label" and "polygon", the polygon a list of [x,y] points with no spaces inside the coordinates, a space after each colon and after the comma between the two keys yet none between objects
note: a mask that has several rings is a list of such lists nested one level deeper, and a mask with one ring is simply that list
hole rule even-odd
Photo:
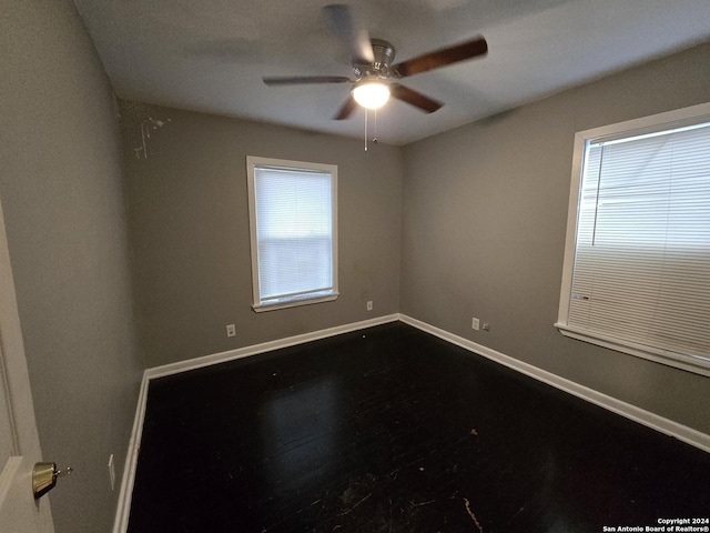
[{"label": "smaller whole window with closed blinds on the back wall", "polygon": [[335,300],[337,167],[246,158],[254,311]]}]

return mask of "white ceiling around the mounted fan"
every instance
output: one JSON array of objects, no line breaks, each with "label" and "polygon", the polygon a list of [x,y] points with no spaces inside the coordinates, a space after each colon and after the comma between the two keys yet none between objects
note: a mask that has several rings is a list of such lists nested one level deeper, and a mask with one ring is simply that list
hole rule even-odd
[{"label": "white ceiling around the mounted fan", "polygon": [[[120,98],[363,135],[332,120],[348,84],[266,87],[263,76],[352,76],[324,0],[74,0]],[[710,40],[710,0],[354,0],[395,62],[483,34],[483,59],[402,80],[445,105],[392,101],[377,138],[406,144]],[[371,128],[372,113],[371,113]]]}]

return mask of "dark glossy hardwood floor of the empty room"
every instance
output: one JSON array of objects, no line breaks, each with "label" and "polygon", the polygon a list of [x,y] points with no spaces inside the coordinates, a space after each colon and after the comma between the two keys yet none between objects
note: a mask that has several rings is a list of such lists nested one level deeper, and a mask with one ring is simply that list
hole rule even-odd
[{"label": "dark glossy hardwood floor of the empty room", "polygon": [[709,515],[710,454],[392,323],[153,381],[129,531],[598,533]]}]

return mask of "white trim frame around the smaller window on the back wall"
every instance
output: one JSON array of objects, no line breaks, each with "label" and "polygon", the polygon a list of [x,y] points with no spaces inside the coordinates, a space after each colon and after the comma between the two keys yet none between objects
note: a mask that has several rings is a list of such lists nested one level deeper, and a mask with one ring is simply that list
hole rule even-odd
[{"label": "white trim frame around the smaller window on the back wall", "polygon": [[[331,201],[332,201],[332,275],[333,292],[326,295],[292,299],[285,302],[262,303],[260,296],[258,273],[258,245],[256,241],[256,199],[254,188],[254,169],[256,167],[276,167],[290,170],[320,171],[331,174]],[[296,308],[314,303],[332,302],[339,296],[338,292],[338,244],[337,244],[337,165],[327,163],[312,163],[305,161],[292,161],[285,159],[262,158],[257,155],[246,157],[246,184],[248,199],[248,228],[252,261],[252,309],[257,312],[275,311],[277,309]]]}]

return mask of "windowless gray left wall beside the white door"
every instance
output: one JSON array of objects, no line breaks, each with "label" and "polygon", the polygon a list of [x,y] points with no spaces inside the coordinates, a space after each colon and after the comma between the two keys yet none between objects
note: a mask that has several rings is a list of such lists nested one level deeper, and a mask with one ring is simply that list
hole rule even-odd
[{"label": "windowless gray left wall beside the white door", "polygon": [[142,361],[111,88],[70,0],[4,0],[0,199],[55,531],[110,531]]}]

